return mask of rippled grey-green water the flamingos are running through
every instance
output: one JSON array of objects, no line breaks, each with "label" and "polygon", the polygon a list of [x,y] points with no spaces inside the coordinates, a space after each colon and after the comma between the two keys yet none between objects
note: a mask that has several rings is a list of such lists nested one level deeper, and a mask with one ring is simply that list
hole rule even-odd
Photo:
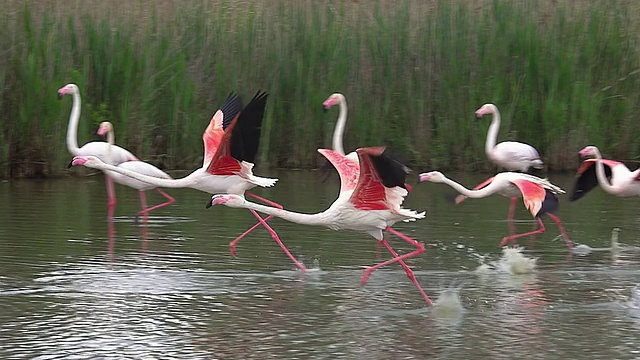
[{"label": "rippled grey-green water the flamingos are running through", "polygon": [[[301,212],[326,208],[337,177],[279,177],[256,193]],[[174,174],[179,176],[180,174]],[[449,174],[472,186],[481,175]],[[552,176],[567,191],[571,176]],[[427,218],[395,228],[426,245],[407,261],[432,299],[454,293],[464,310],[426,306],[400,266],[365,234],[273,219],[294,265],[247,210],[205,209],[209,196],[168,189],[176,202],[146,223],[137,193],[117,186],[109,235],[102,175],[0,183],[0,359],[633,359],[640,357],[638,199],[600,189],[558,212],[576,243],[570,255],[555,224],[522,239],[536,269],[478,272],[500,264],[509,200],[445,200],[442,184],[414,187],[405,205]],[[148,192],[150,204],[162,201]],[[563,201],[564,200],[564,201]],[[518,231],[530,231],[519,203]],[[617,250],[610,246],[619,228]],[[407,243],[391,238],[398,252]]]}]

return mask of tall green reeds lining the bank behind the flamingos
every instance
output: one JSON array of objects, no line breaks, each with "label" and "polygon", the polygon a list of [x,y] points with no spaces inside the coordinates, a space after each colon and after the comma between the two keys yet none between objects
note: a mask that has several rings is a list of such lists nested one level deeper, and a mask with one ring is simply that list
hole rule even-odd
[{"label": "tall green reeds lining the bank behind the flamingos", "polygon": [[0,172],[68,163],[114,123],[117,142],[168,168],[202,161],[201,133],[230,91],[271,93],[260,165],[316,166],[346,95],[345,146],[388,145],[418,168],[482,169],[493,102],[500,140],[537,147],[551,169],[596,144],[640,156],[639,6],[632,1],[7,0],[0,23]]}]

